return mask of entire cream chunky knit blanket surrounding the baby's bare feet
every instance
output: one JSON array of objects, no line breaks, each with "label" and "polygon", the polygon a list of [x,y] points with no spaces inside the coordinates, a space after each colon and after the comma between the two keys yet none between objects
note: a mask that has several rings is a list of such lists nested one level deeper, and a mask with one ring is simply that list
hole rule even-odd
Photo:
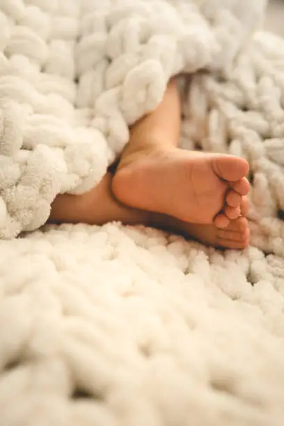
[{"label": "entire cream chunky knit blanket surrounding the baby's bare feet", "polygon": [[[283,426],[284,42],[255,33],[264,10],[0,0],[0,426]],[[36,230],[177,74],[182,146],[251,165],[253,246]]]}]

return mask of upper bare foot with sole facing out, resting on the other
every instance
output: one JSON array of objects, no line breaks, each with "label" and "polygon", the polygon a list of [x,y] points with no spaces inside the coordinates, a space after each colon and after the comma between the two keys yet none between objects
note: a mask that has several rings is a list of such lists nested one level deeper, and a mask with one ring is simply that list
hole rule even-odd
[{"label": "upper bare foot with sole facing out, resting on the other", "polygon": [[122,158],[112,189],[125,205],[226,228],[240,215],[247,173],[246,161],[230,155],[140,151]]}]

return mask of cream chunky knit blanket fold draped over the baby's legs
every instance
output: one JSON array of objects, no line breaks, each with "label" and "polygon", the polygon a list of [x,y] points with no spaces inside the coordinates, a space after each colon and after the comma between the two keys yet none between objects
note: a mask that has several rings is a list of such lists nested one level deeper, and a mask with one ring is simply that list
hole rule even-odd
[{"label": "cream chunky knit blanket fold draped over the baby's legs", "polygon": [[167,81],[230,74],[264,0],[1,0],[0,237],[100,181]]}]

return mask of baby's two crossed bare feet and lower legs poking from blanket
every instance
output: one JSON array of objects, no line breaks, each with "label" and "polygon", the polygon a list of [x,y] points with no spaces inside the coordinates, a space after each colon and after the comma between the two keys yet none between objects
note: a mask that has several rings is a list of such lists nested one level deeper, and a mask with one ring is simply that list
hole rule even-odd
[{"label": "baby's two crossed bare feet and lower legs poking from blanket", "polygon": [[58,196],[49,221],[141,223],[220,248],[248,246],[248,164],[180,150],[180,117],[171,81],[159,107],[130,129],[116,173],[82,196]]}]

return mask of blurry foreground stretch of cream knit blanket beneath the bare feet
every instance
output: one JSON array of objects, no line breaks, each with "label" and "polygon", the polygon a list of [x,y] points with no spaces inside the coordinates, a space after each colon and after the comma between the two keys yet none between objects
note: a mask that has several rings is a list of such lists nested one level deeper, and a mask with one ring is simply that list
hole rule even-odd
[{"label": "blurry foreground stretch of cream knit blanket beneath the bare feet", "polygon": [[283,426],[283,271],[118,224],[2,240],[0,425]]}]

